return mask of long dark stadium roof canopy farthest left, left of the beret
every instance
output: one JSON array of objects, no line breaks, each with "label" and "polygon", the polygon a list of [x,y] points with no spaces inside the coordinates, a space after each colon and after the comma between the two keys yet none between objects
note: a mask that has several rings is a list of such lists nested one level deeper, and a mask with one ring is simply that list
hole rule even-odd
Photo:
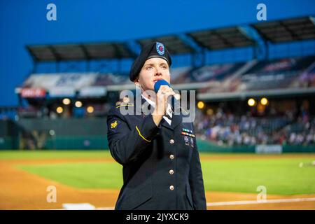
[{"label": "long dark stadium roof canopy farthest left, left of the beret", "polygon": [[36,62],[134,57],[134,53],[124,43],[28,45],[27,50]]}]

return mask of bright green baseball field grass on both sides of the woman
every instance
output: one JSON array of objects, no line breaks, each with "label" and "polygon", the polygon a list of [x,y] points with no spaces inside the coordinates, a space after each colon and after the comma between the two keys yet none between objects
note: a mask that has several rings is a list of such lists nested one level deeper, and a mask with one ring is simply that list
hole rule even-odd
[{"label": "bright green baseball field grass on both sides of the woman", "polygon": [[[257,193],[258,186],[265,186],[267,193],[276,195],[315,193],[315,166],[312,165],[315,154],[200,153],[200,158],[207,191]],[[64,162],[19,164],[16,168],[74,188],[120,189],[123,185],[122,167],[111,158],[109,151],[0,152],[0,162],[53,159],[64,159]],[[91,159],[91,162],[73,162],[76,159]]]}]

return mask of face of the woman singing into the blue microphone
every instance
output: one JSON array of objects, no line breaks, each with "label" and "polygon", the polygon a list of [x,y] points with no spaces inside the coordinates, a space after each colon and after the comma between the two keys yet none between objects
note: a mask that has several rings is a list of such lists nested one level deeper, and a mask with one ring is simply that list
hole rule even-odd
[{"label": "face of the woman singing into the blue microphone", "polygon": [[170,83],[169,64],[165,59],[153,57],[146,60],[139,73],[139,77],[134,80],[136,85],[141,85],[143,90],[154,90],[154,84],[164,79]]}]

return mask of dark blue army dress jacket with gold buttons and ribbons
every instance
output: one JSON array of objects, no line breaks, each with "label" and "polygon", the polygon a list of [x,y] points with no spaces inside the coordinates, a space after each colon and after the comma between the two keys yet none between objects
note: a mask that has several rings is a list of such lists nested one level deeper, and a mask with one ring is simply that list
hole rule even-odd
[{"label": "dark blue army dress jacket with gold buttons and ribbons", "polygon": [[181,113],[157,127],[151,114],[123,116],[122,106],[141,111],[121,104],[107,118],[111,155],[123,165],[115,209],[207,209],[193,123],[183,123]]}]

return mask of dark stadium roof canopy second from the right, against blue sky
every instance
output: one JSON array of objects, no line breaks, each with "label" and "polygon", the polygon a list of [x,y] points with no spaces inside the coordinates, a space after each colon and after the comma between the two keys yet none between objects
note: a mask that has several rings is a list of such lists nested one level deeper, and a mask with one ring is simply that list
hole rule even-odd
[{"label": "dark stadium roof canopy second from the right, against blue sky", "polygon": [[194,31],[188,33],[188,36],[191,36],[201,47],[208,50],[241,48],[255,44],[253,38],[246,35],[241,27]]}]

